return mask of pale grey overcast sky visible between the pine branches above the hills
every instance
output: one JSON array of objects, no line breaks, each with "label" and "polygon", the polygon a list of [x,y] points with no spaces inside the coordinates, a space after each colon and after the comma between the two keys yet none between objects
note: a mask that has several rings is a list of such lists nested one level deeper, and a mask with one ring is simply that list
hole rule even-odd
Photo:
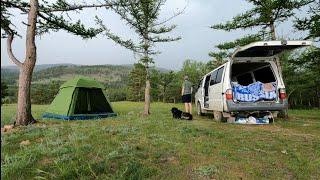
[{"label": "pale grey overcast sky visible between the pine branches above the hills", "polygon": [[[250,8],[250,4],[244,0],[168,0],[163,6],[161,18],[165,19],[177,10],[186,6],[185,12],[170,21],[177,28],[170,33],[172,36],[181,36],[177,42],[158,44],[156,49],[160,55],[154,57],[155,65],[167,69],[177,70],[182,67],[186,59],[207,62],[210,60],[208,52],[214,46],[234,40],[255,30],[247,31],[215,31],[209,26],[230,20],[233,16]],[[26,16],[18,13],[14,21],[23,34],[25,27],[21,22],[26,22]],[[85,10],[79,14],[70,16],[94,26],[94,15],[98,15],[104,23],[117,35],[125,38],[135,38],[135,34],[119,16],[106,10]],[[285,38],[301,37],[300,32],[294,32],[289,22],[277,28],[277,35]],[[83,65],[96,64],[133,64],[137,62],[132,52],[115,44],[104,36],[83,40],[80,37],[68,34],[64,31],[53,32],[38,37],[37,64],[73,63]],[[25,53],[25,39],[16,38],[13,50],[18,59],[23,59]],[[6,41],[1,40],[1,66],[13,65],[6,53]]]}]

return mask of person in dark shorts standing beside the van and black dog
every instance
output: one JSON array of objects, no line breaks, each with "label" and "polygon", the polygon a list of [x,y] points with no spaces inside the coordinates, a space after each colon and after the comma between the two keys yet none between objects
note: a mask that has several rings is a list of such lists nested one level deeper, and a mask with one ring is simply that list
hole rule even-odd
[{"label": "person in dark shorts standing beside the van and black dog", "polygon": [[182,84],[182,102],[184,103],[185,112],[192,114],[191,104],[192,83],[189,81],[188,76],[184,76],[184,82]]}]

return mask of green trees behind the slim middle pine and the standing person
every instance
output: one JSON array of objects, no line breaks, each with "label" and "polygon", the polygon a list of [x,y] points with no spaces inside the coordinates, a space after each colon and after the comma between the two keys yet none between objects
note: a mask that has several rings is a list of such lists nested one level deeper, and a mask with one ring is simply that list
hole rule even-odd
[{"label": "green trees behind the slim middle pine and the standing person", "polygon": [[[180,102],[183,76],[188,75],[196,88],[200,78],[208,71],[208,66],[205,63],[192,60],[186,60],[183,68],[178,72],[151,69],[152,101]],[[145,75],[144,66],[140,63],[135,64],[128,78],[128,100],[142,101],[144,99]]]}]

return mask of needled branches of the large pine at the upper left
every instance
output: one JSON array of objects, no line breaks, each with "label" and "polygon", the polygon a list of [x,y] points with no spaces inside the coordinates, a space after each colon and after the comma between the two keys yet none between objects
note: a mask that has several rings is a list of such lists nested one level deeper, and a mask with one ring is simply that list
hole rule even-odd
[{"label": "needled branches of the large pine at the upper left", "polygon": [[[29,12],[29,3],[22,0],[1,1],[1,29],[5,34],[18,34],[16,32],[16,24],[12,23],[14,16],[9,12],[9,9],[16,9],[22,13]],[[74,22],[69,17],[69,11],[81,11],[85,8],[110,7],[114,5],[106,1],[104,4],[69,4],[65,0],[57,0],[49,3],[48,1],[40,1],[39,11],[37,14],[37,28],[38,35],[48,33],[50,31],[65,30],[69,33],[79,35],[83,38],[92,38],[102,32],[101,28],[86,28],[80,20]],[[66,15],[69,18],[66,18]],[[3,22],[3,23],[2,23]]]}]

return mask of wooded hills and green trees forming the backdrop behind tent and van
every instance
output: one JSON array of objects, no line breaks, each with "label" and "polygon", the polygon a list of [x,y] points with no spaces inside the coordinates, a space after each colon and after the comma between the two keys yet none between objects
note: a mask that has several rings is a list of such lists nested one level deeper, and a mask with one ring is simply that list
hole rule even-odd
[{"label": "wooded hills and green trees forming the backdrop behind tent and van", "polygon": [[[319,108],[319,57],[320,51],[316,48],[285,53],[281,56],[290,108]],[[223,61],[208,60],[205,63],[185,60],[179,71],[153,68],[150,71],[152,101],[181,102],[180,92],[184,75],[190,77],[196,89],[202,76],[221,63]],[[32,102],[50,104],[58,93],[60,85],[68,78],[77,75],[92,77],[103,83],[111,101],[140,102],[144,100],[145,70],[143,65],[137,63],[131,66],[56,66],[36,71],[32,84]],[[16,103],[18,72],[2,68],[1,78],[1,89],[5,93],[1,94],[2,102]]]}]

